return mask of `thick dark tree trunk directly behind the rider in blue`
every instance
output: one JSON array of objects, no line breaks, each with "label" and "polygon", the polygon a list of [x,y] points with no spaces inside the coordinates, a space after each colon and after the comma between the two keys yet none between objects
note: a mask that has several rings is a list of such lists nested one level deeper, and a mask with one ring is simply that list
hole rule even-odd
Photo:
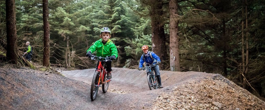
[{"label": "thick dark tree trunk directly behind the rider in blue", "polygon": [[[152,26],[152,51],[156,53],[161,61],[164,61],[167,57],[166,44],[165,44],[165,31],[164,31],[164,20],[162,19],[162,1],[151,0],[151,26]],[[162,64],[161,69],[164,68]]]}]

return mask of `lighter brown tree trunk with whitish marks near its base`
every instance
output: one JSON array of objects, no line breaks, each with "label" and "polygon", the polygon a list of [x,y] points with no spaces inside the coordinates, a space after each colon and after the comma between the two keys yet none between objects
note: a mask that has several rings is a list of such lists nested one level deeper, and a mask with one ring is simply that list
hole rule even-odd
[{"label": "lighter brown tree trunk with whitish marks near its base", "polygon": [[179,20],[178,20],[178,0],[170,0],[170,71],[180,71],[179,63]]}]

